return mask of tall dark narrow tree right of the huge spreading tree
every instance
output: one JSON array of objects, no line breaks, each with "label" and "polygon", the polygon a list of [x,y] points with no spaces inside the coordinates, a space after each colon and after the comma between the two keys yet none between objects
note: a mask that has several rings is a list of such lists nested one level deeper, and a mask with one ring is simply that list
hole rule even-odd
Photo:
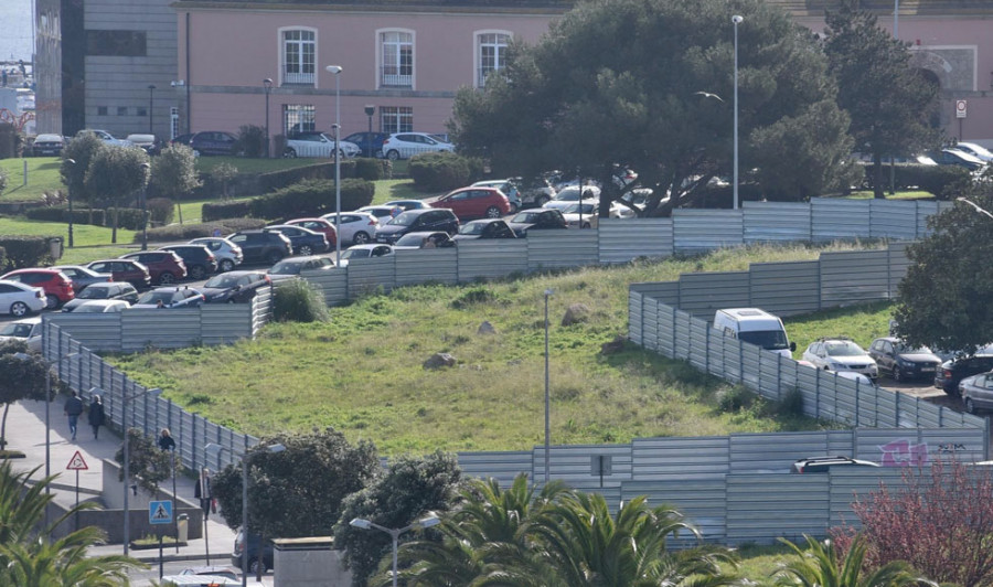
[{"label": "tall dark narrow tree right of the huge spreading tree", "polygon": [[872,153],[875,196],[883,193],[883,157],[933,148],[941,131],[930,124],[938,111],[937,79],[912,67],[908,43],[876,24],[876,17],[844,0],[828,11],[825,31],[837,103],[852,117],[856,150]]}]

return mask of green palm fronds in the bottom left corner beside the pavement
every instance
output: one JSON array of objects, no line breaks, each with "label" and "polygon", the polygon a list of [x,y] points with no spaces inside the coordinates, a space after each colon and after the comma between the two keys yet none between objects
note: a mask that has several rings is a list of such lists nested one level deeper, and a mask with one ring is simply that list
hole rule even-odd
[{"label": "green palm fronds in the bottom left corner beside the pavement", "polygon": [[40,468],[14,472],[10,462],[0,462],[0,585],[111,587],[127,585],[129,569],[147,568],[127,556],[87,557],[87,548],[105,540],[94,526],[53,542],[50,536],[56,526],[97,505],[81,503],[45,526],[45,508],[54,498],[44,490],[54,477],[29,484]]}]

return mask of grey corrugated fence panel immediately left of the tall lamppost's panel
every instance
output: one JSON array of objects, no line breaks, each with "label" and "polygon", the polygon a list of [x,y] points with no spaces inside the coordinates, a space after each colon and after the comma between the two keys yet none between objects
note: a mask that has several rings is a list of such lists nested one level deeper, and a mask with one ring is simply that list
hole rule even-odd
[{"label": "grey corrugated fence panel immediately left of the tall lamppost's panel", "polygon": [[671,257],[671,218],[601,218],[600,263],[627,263],[638,257]]}]

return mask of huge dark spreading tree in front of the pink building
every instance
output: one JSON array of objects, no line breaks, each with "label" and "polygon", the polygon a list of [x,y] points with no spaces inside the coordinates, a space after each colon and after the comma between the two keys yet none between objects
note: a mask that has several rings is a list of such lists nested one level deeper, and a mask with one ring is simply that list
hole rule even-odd
[{"label": "huge dark spreading tree in front of the pink building", "polygon": [[626,164],[639,173],[626,190],[653,190],[648,215],[696,204],[733,167],[735,13],[745,17],[740,167],[803,161],[777,169],[790,179],[764,185],[767,195],[799,200],[840,186],[854,166],[842,157],[852,141],[826,58],[809,31],[757,0],[581,3],[540,44],[511,47],[483,92],[460,90],[449,130],[494,171],[578,169],[600,180],[605,201],[618,195],[615,164]]}]

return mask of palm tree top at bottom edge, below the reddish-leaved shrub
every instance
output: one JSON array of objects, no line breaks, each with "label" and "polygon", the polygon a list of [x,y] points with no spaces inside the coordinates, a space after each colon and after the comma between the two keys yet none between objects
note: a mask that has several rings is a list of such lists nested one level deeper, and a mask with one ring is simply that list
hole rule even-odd
[{"label": "palm tree top at bottom edge, below the reddish-leaved shrub", "polygon": [[918,577],[914,568],[904,561],[888,563],[866,574],[863,568],[866,543],[861,534],[855,537],[844,561],[839,559],[831,541],[818,542],[804,535],[807,548],[780,538],[797,555],[773,576],[776,584],[783,587],[909,587],[938,584]]}]

